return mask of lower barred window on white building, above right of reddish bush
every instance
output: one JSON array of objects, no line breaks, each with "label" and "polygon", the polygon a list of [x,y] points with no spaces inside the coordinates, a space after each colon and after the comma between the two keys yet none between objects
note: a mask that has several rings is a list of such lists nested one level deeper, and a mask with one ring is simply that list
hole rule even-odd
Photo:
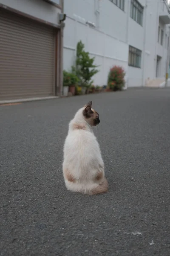
[{"label": "lower barred window on white building, above right of reddish bush", "polygon": [[129,46],[129,66],[141,67],[141,55],[141,50]]}]

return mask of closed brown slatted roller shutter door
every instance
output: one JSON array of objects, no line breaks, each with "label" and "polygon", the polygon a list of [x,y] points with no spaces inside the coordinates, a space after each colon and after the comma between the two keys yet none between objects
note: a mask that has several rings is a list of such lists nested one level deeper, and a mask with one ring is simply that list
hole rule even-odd
[{"label": "closed brown slatted roller shutter door", "polygon": [[55,93],[55,30],[0,10],[0,100]]}]

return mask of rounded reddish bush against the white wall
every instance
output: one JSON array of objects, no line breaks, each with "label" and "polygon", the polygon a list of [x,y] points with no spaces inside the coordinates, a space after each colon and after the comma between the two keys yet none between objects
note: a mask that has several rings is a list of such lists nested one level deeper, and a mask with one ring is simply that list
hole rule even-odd
[{"label": "rounded reddish bush against the white wall", "polygon": [[120,66],[113,66],[108,74],[108,87],[113,90],[122,90],[125,86],[125,71]]}]

